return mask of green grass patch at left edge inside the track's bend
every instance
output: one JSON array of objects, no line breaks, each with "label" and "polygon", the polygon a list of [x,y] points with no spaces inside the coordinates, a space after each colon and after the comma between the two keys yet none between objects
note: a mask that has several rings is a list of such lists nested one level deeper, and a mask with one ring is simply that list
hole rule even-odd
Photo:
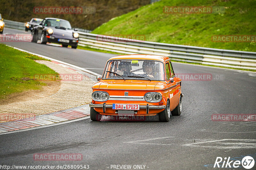
[{"label": "green grass patch at left edge inside the track's bend", "polygon": [[34,80],[35,74],[57,74],[49,67],[34,60],[41,57],[21,52],[0,44],[0,100],[13,93],[38,90],[46,83]]}]

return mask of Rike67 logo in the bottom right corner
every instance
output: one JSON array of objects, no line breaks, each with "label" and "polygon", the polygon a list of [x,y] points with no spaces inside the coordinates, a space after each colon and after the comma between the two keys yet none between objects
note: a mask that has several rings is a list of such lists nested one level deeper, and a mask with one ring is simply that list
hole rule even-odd
[{"label": "Rike67 logo in the bottom right corner", "polygon": [[217,157],[213,167],[218,168],[238,168],[243,166],[245,169],[251,169],[254,166],[254,159],[251,156],[245,156],[242,161],[240,160],[230,160],[230,157],[225,157],[222,159],[221,157]]}]

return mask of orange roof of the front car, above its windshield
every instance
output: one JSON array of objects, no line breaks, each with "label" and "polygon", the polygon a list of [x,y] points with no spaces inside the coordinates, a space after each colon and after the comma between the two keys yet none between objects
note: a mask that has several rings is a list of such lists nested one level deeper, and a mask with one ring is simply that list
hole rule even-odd
[{"label": "orange roof of the front car, above its windshield", "polygon": [[123,60],[123,59],[137,59],[137,60],[159,60],[162,62],[166,62],[170,60],[169,57],[161,56],[161,55],[151,55],[151,54],[132,54],[132,55],[118,55],[115,57],[111,57],[109,60]]}]

